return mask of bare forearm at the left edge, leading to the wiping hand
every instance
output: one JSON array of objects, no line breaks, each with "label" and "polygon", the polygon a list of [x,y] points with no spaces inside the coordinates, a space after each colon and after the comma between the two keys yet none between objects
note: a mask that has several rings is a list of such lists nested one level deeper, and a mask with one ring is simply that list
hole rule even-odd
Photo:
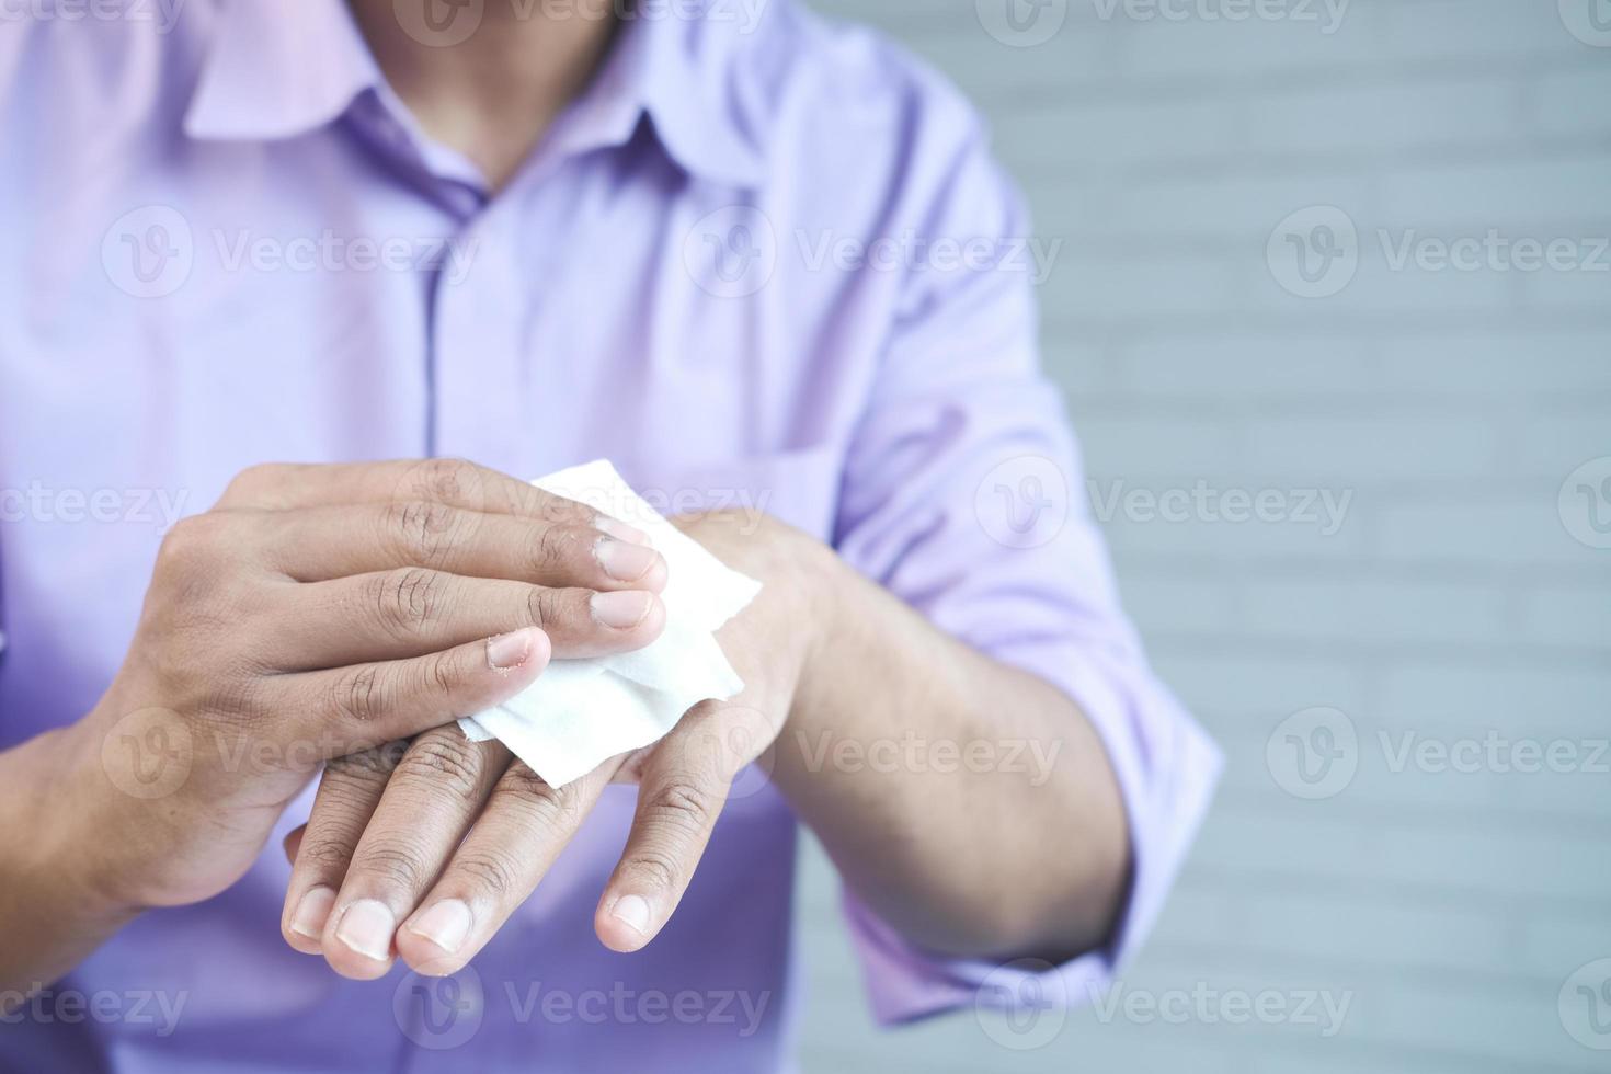
[{"label": "bare forearm at the left edge, leading to the wiping hand", "polygon": [[74,824],[72,728],[0,752],[0,1013],[48,985],[134,918],[93,881],[95,847]]}]

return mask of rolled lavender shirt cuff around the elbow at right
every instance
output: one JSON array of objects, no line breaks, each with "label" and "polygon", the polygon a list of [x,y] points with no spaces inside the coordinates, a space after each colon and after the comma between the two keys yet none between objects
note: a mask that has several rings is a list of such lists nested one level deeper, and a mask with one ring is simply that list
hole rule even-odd
[{"label": "rolled lavender shirt cuff around the elbow at right", "polygon": [[1129,821],[1129,892],[1108,944],[1052,966],[925,952],[846,890],[844,915],[873,1014],[886,1026],[967,1005],[1021,1010],[1091,1002],[1152,931],[1220,778],[1218,747],[1145,668],[1107,667],[1073,655],[1066,644],[994,655],[1063,689],[1100,736]]}]

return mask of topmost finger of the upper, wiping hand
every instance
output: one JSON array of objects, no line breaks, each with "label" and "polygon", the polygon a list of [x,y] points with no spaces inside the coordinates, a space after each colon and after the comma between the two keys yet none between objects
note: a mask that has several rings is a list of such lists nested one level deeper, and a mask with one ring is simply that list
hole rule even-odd
[{"label": "topmost finger of the upper, wiping hand", "polygon": [[271,462],[242,470],[224,491],[219,506],[288,510],[414,499],[561,525],[596,527],[623,541],[648,543],[641,530],[619,518],[464,459],[330,465]]}]

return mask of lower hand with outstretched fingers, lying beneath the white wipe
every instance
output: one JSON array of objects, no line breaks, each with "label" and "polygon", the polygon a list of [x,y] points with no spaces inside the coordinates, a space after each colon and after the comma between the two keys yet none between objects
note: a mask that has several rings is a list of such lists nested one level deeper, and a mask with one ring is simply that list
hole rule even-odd
[{"label": "lower hand with outstretched fingers, lying beneath the white wipe", "polygon": [[498,742],[454,726],[401,752],[332,763],[306,829],[287,839],[295,868],[282,932],[348,977],[379,977],[396,955],[420,973],[464,966],[532,894],[612,779],[640,784],[632,832],[594,927],[614,950],[648,944],[693,878],[738,771],[783,726],[818,638],[817,572],[831,554],[751,514],[677,518],[760,596],[719,634],[744,680],[702,702],[659,742],[554,789]]}]

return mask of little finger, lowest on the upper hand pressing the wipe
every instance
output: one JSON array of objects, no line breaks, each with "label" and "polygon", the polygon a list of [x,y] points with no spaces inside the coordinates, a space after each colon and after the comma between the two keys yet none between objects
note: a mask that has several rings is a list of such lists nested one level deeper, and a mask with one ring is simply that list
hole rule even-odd
[{"label": "little finger, lowest on the upper hand pressing the wipe", "polygon": [[303,752],[345,757],[485,712],[530,686],[548,659],[548,636],[525,626],[409,660],[277,675],[255,704],[287,713],[284,733]]}]

